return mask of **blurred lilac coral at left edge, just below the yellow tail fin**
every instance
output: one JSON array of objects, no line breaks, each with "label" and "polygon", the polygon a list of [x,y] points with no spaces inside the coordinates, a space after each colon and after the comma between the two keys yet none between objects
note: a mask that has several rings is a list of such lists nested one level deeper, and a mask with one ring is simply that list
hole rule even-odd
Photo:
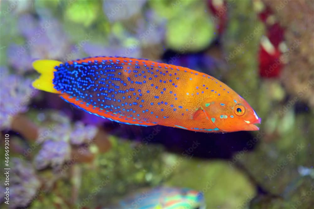
[{"label": "blurred lilac coral at left edge, just below the yellow tail fin", "polygon": [[3,130],[10,128],[16,114],[27,111],[27,105],[37,90],[31,87],[30,80],[9,75],[4,67],[1,67],[0,89],[0,129]]}]

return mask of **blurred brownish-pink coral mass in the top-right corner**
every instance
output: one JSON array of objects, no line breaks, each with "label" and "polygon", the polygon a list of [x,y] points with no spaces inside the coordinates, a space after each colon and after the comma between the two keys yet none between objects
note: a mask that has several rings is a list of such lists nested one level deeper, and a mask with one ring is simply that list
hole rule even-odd
[{"label": "blurred brownish-pink coral mass in the top-right corner", "polygon": [[[286,65],[281,76],[286,90],[314,107],[313,1],[263,1],[285,28]],[[293,15],[291,15],[293,14]],[[298,69],[298,70],[296,70]]]}]

